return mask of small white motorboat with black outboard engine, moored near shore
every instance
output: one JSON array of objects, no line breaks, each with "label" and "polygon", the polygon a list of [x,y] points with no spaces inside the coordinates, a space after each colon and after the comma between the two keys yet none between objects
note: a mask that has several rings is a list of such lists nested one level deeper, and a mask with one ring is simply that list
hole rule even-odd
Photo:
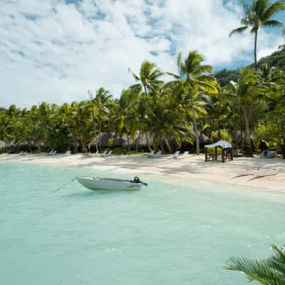
[{"label": "small white motorboat with black outboard engine, moored near shore", "polygon": [[105,177],[76,177],[77,181],[89,190],[140,190],[147,183],[135,176],[133,180]]}]

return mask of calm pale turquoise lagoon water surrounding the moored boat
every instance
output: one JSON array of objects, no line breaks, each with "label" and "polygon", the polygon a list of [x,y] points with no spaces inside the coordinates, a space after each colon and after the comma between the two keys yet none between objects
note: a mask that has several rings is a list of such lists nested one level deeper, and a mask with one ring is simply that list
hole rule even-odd
[{"label": "calm pale turquoise lagoon water surrounding the moored boat", "polygon": [[103,172],[0,163],[1,284],[245,284],[224,261],[285,244],[284,195],[153,180],[138,192],[73,182],[52,194],[78,175]]}]

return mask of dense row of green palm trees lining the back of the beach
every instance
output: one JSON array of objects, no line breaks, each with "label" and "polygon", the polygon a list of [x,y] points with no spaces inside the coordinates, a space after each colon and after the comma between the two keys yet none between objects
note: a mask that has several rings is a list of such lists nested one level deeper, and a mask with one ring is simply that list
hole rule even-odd
[{"label": "dense row of green palm trees lining the back of the beach", "polygon": [[[90,142],[101,149],[104,132],[125,135],[126,148],[135,135],[145,135],[148,147],[173,152],[182,142],[195,145],[199,153],[201,133],[212,142],[233,142],[247,154],[263,140],[285,156],[284,70],[267,65],[244,68],[236,81],[219,85],[212,66],[192,51],[177,59],[177,74],[165,73],[144,61],[135,84],[122,90],[120,98],[99,88],[86,100],[63,105],[41,103],[20,109],[0,110],[0,140],[12,151],[86,149]],[[112,144],[110,143],[110,147]]]}]

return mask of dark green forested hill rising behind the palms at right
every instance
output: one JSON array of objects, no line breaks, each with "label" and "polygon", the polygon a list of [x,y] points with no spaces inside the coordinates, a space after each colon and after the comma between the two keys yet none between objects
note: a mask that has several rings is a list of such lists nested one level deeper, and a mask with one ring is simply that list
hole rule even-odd
[{"label": "dark green forested hill rising behind the palms at right", "polygon": [[[258,68],[261,68],[261,66],[265,63],[269,64],[269,66],[275,66],[276,68],[285,70],[285,49],[275,51],[270,56],[260,58],[257,62]],[[253,67],[253,65],[250,66]],[[217,81],[219,81],[219,84],[223,87],[227,85],[229,81],[237,81],[237,78],[239,77],[239,70],[222,69],[222,71],[215,73],[214,76],[217,78]]]}]

